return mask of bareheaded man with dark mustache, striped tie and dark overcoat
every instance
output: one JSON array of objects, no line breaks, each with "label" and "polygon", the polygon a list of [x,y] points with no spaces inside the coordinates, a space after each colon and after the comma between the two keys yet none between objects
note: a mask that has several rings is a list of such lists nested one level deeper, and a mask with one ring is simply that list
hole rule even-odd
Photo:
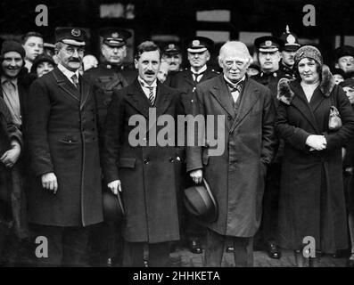
[{"label": "bareheaded man with dark mustache, striped tie and dark overcoat", "polygon": [[[155,124],[162,115],[177,122],[184,109],[177,90],[157,80],[160,60],[160,50],[152,42],[137,47],[139,75],[132,85],[113,94],[106,118],[104,179],[113,193],[121,191],[126,211],[125,266],[144,266],[144,262],[166,266],[169,241],[179,239],[175,169],[181,162],[180,151],[173,144],[156,142],[163,126]],[[170,131],[177,138],[176,130]]]}]

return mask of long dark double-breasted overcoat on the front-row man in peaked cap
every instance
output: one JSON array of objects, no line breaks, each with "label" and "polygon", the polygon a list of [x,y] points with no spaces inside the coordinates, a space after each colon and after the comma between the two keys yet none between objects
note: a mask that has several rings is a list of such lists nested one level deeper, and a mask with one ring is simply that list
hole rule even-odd
[{"label": "long dark double-breasted overcoat on the front-row man in peaked cap", "polygon": [[[31,85],[28,143],[36,178],[29,191],[29,222],[86,226],[103,221],[95,100],[85,79],[80,90],[57,68]],[[50,172],[58,179],[56,194],[40,183]]]}]

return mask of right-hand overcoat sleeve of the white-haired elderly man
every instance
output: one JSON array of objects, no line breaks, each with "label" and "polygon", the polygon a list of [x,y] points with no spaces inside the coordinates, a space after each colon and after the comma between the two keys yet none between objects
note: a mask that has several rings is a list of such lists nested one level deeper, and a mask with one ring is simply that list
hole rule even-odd
[{"label": "right-hand overcoat sleeve of the white-haired elderly man", "polygon": [[276,139],[274,134],[274,122],[276,119],[276,108],[270,90],[267,90],[265,105],[263,109],[262,126],[262,151],[261,160],[269,164],[275,153]]}]

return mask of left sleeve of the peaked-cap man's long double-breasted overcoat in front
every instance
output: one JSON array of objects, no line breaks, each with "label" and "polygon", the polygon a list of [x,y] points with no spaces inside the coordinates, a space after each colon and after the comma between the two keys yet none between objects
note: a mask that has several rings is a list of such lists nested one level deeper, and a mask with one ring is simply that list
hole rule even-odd
[{"label": "left sleeve of the peaked-cap man's long double-breasted overcoat in front", "polygon": [[51,111],[49,90],[43,81],[36,80],[29,90],[28,147],[35,175],[54,172],[48,142],[48,119]]}]

